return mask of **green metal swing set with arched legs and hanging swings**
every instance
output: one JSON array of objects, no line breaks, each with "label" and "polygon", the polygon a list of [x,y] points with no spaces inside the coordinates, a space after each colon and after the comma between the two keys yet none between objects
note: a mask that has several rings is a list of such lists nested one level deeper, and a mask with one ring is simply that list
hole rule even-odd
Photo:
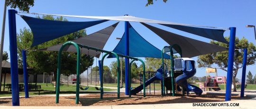
[{"label": "green metal swing set with arched legs and hanging swings", "polygon": [[[75,42],[72,42],[72,41],[68,41],[68,42],[66,42],[66,43],[64,43],[62,46],[61,46],[61,48],[60,48],[60,50],[59,50],[59,53],[58,53],[58,64],[57,64],[57,82],[56,82],[56,103],[59,103],[59,94],[60,94],[60,72],[61,72],[61,54],[62,54],[62,51],[63,51],[63,49],[64,49],[64,47],[65,46],[67,46],[67,45],[73,45],[73,46],[75,46],[75,48],[76,48],[76,51],[77,51],[77,65],[76,65],[76,99],[75,99],[75,103],[76,104],[78,104],[79,103],[79,89],[83,89],[82,87],[80,87],[80,63],[81,63],[81,52],[80,52],[80,49],[79,49],[79,47],[81,47],[81,48],[87,48],[88,49],[88,51],[89,51],[89,49],[91,49],[91,50],[95,50],[96,52],[97,51],[101,51],[102,53],[106,53],[106,54],[104,54],[103,56],[102,56],[102,58],[101,58],[101,60],[102,61],[99,61],[99,62],[101,62],[101,64],[99,64],[100,65],[100,67],[99,67],[99,71],[100,71],[100,83],[101,83],[101,88],[99,89],[98,87],[97,87],[97,84],[96,84],[96,86],[95,86],[95,89],[99,89],[100,91],[101,91],[101,99],[103,99],[103,62],[104,62],[104,58],[107,56],[107,55],[114,55],[116,58],[117,58],[117,71],[118,71],[118,73],[117,73],[117,78],[118,78],[118,89],[117,89],[117,91],[118,91],[118,99],[120,99],[120,82],[119,82],[119,80],[120,80],[120,77],[119,77],[119,73],[120,73],[120,67],[119,67],[119,55],[120,56],[122,56],[122,57],[127,57],[127,58],[129,58],[129,59],[133,59],[134,61],[141,61],[142,63],[143,63],[143,67],[144,67],[144,69],[145,69],[145,64],[144,64],[144,62],[141,60],[141,59],[138,59],[138,58],[134,58],[134,57],[129,57],[129,56],[126,56],[126,55],[122,55],[122,54],[116,54],[115,52],[110,52],[110,51],[106,51],[106,50],[102,50],[102,49],[98,49],[98,48],[95,48],[95,47],[91,47],[91,46],[87,46],[87,45],[81,45],[81,44],[77,44],[77,43],[75,43]],[[145,70],[143,70],[144,71],[144,78],[143,78],[143,82],[145,83]],[[88,74],[88,73],[87,73]],[[88,84],[88,82],[87,82],[87,84]],[[89,87],[88,87],[89,88]],[[87,87],[86,88],[84,88],[83,90],[87,90],[88,89]],[[144,97],[146,96],[146,90],[145,90],[145,86],[143,87],[143,90],[144,90]]]}]

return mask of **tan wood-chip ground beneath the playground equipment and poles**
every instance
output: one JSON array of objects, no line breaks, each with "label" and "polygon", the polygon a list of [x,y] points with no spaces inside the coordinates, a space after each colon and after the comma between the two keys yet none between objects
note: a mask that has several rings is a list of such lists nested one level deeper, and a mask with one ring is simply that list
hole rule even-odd
[{"label": "tan wood-chip ground beneath the playground equipment and poles", "polygon": [[[238,95],[232,96],[232,100],[245,100],[250,97],[240,98]],[[198,102],[218,102],[225,101],[225,95],[203,94],[197,96],[177,95],[175,97],[158,95],[133,95],[132,98],[121,94],[117,99],[117,94],[104,94],[100,99],[100,94],[90,94],[80,96],[79,104],[75,104],[75,96],[60,97],[59,103],[55,104],[55,96],[30,97],[29,99],[20,98],[20,106],[107,106],[107,105],[133,105],[133,104],[167,104],[167,103],[198,103]],[[0,99],[0,105],[11,106],[11,99]]]}]

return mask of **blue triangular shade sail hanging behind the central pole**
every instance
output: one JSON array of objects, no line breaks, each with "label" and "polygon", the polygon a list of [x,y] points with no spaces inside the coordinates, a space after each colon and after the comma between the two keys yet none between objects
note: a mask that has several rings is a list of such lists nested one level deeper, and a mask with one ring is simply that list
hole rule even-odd
[{"label": "blue triangular shade sail hanging behind the central pole", "polygon": [[[125,55],[125,37],[122,36],[118,45],[113,52]],[[129,24],[129,56],[131,57],[155,57],[162,58],[161,50],[147,42],[137,31]],[[109,58],[114,57],[110,55]],[[164,54],[164,58],[169,59],[168,54]]]}]

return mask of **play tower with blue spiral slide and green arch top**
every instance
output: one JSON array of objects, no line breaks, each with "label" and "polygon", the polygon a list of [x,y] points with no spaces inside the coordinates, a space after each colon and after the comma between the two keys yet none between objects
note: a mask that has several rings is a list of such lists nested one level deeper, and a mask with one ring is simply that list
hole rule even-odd
[{"label": "play tower with blue spiral slide and green arch top", "polygon": [[[180,53],[181,58],[174,59],[174,54],[176,54],[174,53],[174,48],[178,48],[178,51],[176,51],[176,53]],[[162,55],[166,52],[170,52],[171,59],[171,72],[169,73],[169,78],[166,68],[163,68],[164,73],[162,74],[162,77],[164,78],[164,80],[162,81],[162,86],[166,87],[166,94],[168,90],[172,90],[173,96],[175,94],[175,91],[176,93],[178,93],[178,91],[182,91],[183,95],[184,91],[187,92],[187,95],[189,94],[189,91],[194,91],[197,95],[201,95],[202,90],[200,88],[187,83],[187,79],[192,77],[196,73],[195,61],[190,58],[183,58],[182,49],[179,45],[176,44],[171,46],[165,46],[162,50]],[[163,57],[162,66],[165,66]],[[181,86],[182,89],[179,86]],[[162,95],[165,95],[165,87],[162,88]]]}]

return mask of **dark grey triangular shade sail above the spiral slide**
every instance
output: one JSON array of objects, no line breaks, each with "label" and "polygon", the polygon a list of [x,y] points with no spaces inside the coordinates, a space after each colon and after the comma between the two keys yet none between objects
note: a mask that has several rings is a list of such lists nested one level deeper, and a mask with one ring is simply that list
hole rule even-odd
[{"label": "dark grey triangular shade sail above the spiral slide", "polygon": [[[160,36],[162,39],[164,39],[165,42],[167,42],[169,45],[174,45],[174,44],[180,45],[182,49],[183,57],[194,57],[202,54],[210,54],[210,53],[228,50],[228,48],[226,47],[209,44],[209,43],[198,41],[185,36],[180,36],[180,35],[165,31],[163,29],[150,26],[145,23],[141,23],[141,24],[149,28],[156,35]],[[178,51],[177,49],[175,50]]]}]

